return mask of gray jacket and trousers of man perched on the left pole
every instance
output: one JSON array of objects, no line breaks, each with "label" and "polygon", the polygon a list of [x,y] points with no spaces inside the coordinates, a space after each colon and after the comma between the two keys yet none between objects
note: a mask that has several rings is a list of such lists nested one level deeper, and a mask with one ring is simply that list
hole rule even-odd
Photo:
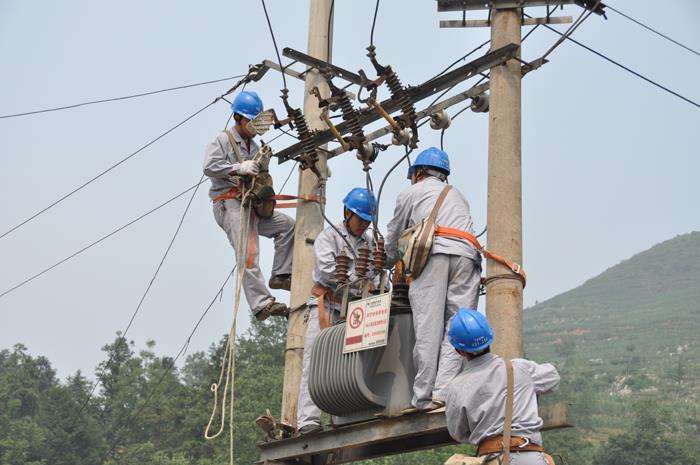
[{"label": "gray jacket and trousers of man perched on the left pole", "polygon": [[[258,152],[258,145],[250,141],[250,148],[243,141],[238,131],[231,129],[234,139],[238,142],[241,157],[244,160],[252,159]],[[225,194],[231,188],[238,186],[238,178],[232,176],[240,167],[228,137],[220,133],[207,146],[204,154],[204,174],[211,179],[209,197],[213,200],[221,194]],[[214,219],[226,232],[228,240],[237,253],[239,235],[241,230],[241,202],[236,199],[222,200],[213,205]],[[289,216],[275,211],[271,218],[258,218],[252,215],[250,222],[256,250],[260,250],[259,236],[269,237],[275,243],[275,257],[272,262],[272,275],[290,274],[292,272],[292,256],[294,245],[294,220]],[[270,290],[265,284],[265,279],[258,264],[258,254],[253,261],[253,266],[245,270],[243,277],[243,291],[246,300],[253,313],[261,311],[274,300]],[[243,257],[236,257],[239,266],[245,266]]]}]

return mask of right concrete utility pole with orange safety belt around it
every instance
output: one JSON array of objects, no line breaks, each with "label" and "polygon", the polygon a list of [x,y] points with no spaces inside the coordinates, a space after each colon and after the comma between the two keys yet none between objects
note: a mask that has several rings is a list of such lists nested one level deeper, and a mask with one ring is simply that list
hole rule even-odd
[{"label": "right concrete utility pole with orange safety belt around it", "polygon": [[[496,9],[491,18],[491,48],[521,42],[518,9]],[[520,52],[518,52],[520,55]],[[491,69],[487,225],[488,248],[522,264],[522,171],[520,160],[520,63],[510,60]],[[489,260],[486,276],[513,277]],[[523,287],[516,279],[498,279],[486,289],[486,314],[494,327],[494,352],[523,356]]]}]

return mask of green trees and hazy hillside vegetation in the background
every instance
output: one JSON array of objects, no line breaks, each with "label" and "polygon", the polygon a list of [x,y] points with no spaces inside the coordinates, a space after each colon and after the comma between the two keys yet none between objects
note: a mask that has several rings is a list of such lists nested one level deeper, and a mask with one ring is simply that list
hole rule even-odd
[{"label": "green trees and hazy hillside vegetation in the background", "polygon": [[[572,403],[576,428],[546,433],[571,465],[700,463],[700,233],[638,254],[584,285],[526,311],[527,356],[563,375],[552,401]],[[240,341],[237,463],[257,460],[253,420],[279,409],[284,321],[254,323]],[[0,352],[0,464],[213,465],[223,438],[202,439],[225,340],[177,369],[150,341],[137,351],[117,337],[103,385],[81,411],[90,383],[56,378],[48,359],[22,345]],[[116,349],[116,350],[115,350]],[[105,358],[107,358],[105,356]],[[549,400],[548,400],[549,401]],[[441,463],[449,447],[373,460]]]}]

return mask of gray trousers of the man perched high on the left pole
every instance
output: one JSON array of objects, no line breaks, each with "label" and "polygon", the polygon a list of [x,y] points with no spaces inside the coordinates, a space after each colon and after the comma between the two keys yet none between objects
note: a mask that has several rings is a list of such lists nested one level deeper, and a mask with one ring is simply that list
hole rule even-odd
[{"label": "gray trousers of the man perched high on the left pole", "polygon": [[[236,263],[245,266],[243,257],[238,257],[239,235],[241,231],[241,202],[230,199],[214,202],[214,218],[221,229],[226,232],[228,240],[236,253]],[[269,237],[275,243],[275,258],[272,262],[272,276],[291,274],[292,256],[294,249],[294,220],[284,213],[275,211],[271,218],[258,218],[253,215],[250,222],[255,237],[258,253],[253,260],[253,266],[246,268],[243,275],[243,292],[253,314],[259,312],[274,300],[265,279],[260,271],[258,259],[260,255],[259,236]]]}]

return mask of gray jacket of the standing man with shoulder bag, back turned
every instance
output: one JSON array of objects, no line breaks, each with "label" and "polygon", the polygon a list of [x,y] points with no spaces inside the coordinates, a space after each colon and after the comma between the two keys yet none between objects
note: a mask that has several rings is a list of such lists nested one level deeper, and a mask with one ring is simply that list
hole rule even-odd
[{"label": "gray jacket of the standing man with shoulder bag, back turned", "polygon": [[[398,241],[401,233],[411,226],[421,222],[430,215],[440,192],[446,183],[438,178],[429,176],[406,188],[396,198],[394,217],[387,226],[386,253],[387,265],[400,260],[398,256]],[[469,211],[469,202],[461,192],[453,187],[448,192],[437,214],[435,224],[456,228],[473,233],[473,221]],[[460,255],[477,260],[477,252],[468,242],[453,237],[435,237],[432,254]]]}]

